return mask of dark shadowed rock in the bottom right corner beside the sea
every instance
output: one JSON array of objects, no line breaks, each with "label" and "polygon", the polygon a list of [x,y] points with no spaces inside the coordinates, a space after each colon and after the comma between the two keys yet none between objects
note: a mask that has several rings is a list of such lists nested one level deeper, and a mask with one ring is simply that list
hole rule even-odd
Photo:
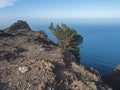
[{"label": "dark shadowed rock in the bottom right corner beside the sea", "polygon": [[111,86],[113,90],[120,90],[120,65],[109,75],[103,77],[106,84]]}]

